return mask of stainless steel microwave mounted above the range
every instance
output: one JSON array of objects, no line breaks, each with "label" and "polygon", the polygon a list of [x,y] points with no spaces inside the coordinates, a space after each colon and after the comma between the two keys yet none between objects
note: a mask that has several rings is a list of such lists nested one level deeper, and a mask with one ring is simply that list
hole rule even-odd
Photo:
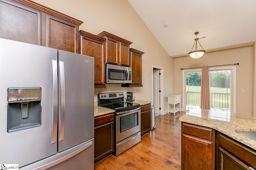
[{"label": "stainless steel microwave mounted above the range", "polygon": [[106,83],[132,83],[132,68],[106,64]]}]

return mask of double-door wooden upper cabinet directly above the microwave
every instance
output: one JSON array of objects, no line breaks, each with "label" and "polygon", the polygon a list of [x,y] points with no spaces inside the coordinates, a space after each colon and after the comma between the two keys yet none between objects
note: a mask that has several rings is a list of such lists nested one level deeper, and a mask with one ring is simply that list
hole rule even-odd
[{"label": "double-door wooden upper cabinet directly above the microwave", "polygon": [[106,39],[105,63],[130,66],[129,47],[132,42],[103,31],[98,36]]}]

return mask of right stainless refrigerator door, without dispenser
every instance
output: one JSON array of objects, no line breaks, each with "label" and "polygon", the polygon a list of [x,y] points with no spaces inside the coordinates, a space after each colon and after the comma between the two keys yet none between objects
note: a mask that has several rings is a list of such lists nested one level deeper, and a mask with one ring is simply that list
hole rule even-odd
[{"label": "right stainless refrigerator door, without dispenser", "polygon": [[58,152],[94,137],[94,58],[58,50]]}]

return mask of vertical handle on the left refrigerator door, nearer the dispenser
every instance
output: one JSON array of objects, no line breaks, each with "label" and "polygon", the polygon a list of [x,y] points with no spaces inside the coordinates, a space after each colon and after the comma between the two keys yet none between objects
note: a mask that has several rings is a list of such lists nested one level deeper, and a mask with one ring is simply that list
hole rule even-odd
[{"label": "vertical handle on the left refrigerator door, nearer the dispenser", "polygon": [[52,60],[52,86],[53,86],[53,121],[52,121],[52,144],[57,142],[58,130],[58,64]]}]

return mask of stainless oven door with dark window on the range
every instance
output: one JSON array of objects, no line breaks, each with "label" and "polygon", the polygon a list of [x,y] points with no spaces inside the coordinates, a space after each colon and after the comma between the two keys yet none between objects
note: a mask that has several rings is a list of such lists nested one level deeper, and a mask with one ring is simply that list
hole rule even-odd
[{"label": "stainless oven door with dark window on the range", "polygon": [[140,131],[140,107],[116,113],[116,143]]}]

